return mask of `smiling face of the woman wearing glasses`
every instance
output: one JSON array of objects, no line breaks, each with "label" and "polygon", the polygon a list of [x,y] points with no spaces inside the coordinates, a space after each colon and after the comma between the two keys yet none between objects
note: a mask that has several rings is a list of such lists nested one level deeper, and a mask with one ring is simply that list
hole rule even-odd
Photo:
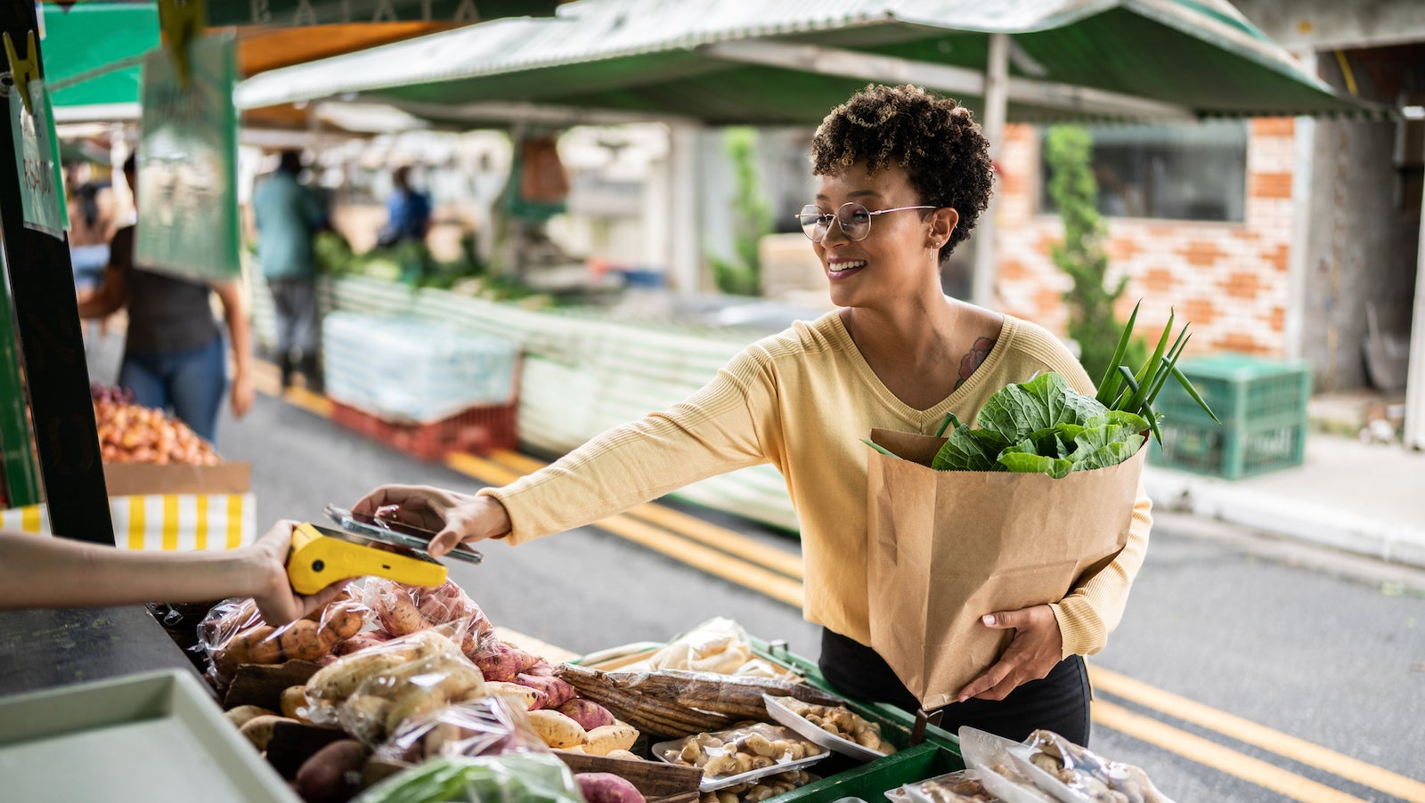
[{"label": "smiling face of the woman wearing glasses", "polygon": [[[886,165],[875,174],[865,162],[844,172],[824,175],[817,191],[817,206],[834,215],[842,204],[861,204],[871,212],[921,204],[911,179],[901,165]],[[852,241],[834,221],[826,236],[814,243],[822,269],[831,280],[831,300],[836,306],[865,306],[888,298],[923,292],[925,283],[939,288],[936,251],[948,232],[933,231],[932,209],[905,209],[871,216],[871,232]]]}]

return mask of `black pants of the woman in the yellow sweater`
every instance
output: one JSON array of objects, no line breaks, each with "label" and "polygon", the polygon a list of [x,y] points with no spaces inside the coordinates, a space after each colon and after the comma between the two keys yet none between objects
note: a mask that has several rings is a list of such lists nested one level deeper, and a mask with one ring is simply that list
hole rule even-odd
[{"label": "black pants of the woman in the yellow sweater", "polygon": [[[876,651],[825,628],[818,665],[826,682],[849,698],[891,703],[912,713],[921,706]],[[1083,658],[1070,655],[1043,679],[1016,688],[1002,700],[970,698],[940,710],[940,728],[950,733],[969,725],[1023,742],[1030,732],[1045,728],[1087,747],[1089,672]]]}]

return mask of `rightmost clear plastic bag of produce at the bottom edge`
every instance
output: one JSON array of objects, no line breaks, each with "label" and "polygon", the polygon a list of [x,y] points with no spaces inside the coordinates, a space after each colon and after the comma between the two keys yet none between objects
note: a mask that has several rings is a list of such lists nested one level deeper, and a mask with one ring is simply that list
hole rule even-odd
[{"label": "rightmost clear plastic bag of produce at the bottom edge", "polygon": [[[1016,763],[1020,763],[1020,769],[1037,786],[1060,783],[1093,803],[1120,803],[1124,800],[1127,803],[1173,803],[1153,786],[1141,769],[1107,760],[1052,730],[1035,730],[1025,740],[1025,746],[1027,750],[1015,750],[1010,755],[1022,759]],[[1027,766],[1023,762],[1027,762]],[[1047,789],[1047,792],[1056,790]]]}]

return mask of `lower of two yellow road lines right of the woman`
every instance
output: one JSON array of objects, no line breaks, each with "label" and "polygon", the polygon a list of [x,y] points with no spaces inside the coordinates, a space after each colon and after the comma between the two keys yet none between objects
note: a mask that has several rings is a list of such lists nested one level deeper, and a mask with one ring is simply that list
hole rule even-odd
[{"label": "lower of two yellow road lines right of the woman", "polygon": [[1110,702],[1093,702],[1093,720],[1292,800],[1302,803],[1364,803],[1361,797],[1301,777],[1264,760],[1244,756],[1231,747],[1178,730],[1171,725],[1164,725]]}]

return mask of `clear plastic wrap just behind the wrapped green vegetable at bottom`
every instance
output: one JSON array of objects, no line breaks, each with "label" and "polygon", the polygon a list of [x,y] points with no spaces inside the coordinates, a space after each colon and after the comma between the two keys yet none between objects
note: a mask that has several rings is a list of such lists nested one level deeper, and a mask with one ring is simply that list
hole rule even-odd
[{"label": "clear plastic wrap just behind the wrapped green vegetable at bottom", "polygon": [[378,756],[413,763],[436,756],[549,752],[526,713],[497,695],[410,718],[375,750]]}]

